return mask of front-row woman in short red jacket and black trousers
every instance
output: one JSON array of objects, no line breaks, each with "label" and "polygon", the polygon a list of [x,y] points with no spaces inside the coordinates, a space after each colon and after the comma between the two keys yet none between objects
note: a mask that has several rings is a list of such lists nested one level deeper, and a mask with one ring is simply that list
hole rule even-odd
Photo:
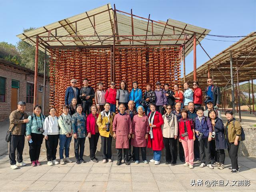
[{"label": "front-row woman in short red jacket and black trousers", "polygon": [[98,159],[95,157],[97,144],[99,140],[99,128],[96,124],[99,114],[97,114],[97,106],[92,105],[90,108],[91,113],[86,118],[86,129],[88,132],[88,138],[90,143],[90,158],[91,162],[98,163]]}]

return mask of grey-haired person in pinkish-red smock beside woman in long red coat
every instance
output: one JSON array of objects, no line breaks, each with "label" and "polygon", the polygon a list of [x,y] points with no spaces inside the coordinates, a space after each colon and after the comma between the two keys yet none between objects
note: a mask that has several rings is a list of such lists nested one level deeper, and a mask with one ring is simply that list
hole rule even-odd
[{"label": "grey-haired person in pinkish-red smock beside woman in long red coat", "polygon": [[135,156],[135,164],[140,162],[140,150],[142,161],[145,164],[148,164],[146,159],[146,146],[148,133],[150,131],[148,116],[144,115],[144,107],[137,107],[138,114],[135,115],[132,119],[132,140],[131,145],[133,146],[133,152]]}]

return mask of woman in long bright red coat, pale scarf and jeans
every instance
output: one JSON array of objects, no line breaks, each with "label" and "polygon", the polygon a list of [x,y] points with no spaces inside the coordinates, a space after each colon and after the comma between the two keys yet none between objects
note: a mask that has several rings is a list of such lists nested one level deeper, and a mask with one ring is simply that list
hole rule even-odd
[{"label": "woman in long bright red coat, pale scarf and jeans", "polygon": [[150,126],[150,132],[148,137],[148,148],[152,148],[154,151],[154,157],[150,162],[154,162],[155,165],[160,164],[161,150],[164,148],[162,124],[164,120],[160,112],[156,111],[156,105],[151,103],[149,106],[151,112],[148,114],[148,122]]}]

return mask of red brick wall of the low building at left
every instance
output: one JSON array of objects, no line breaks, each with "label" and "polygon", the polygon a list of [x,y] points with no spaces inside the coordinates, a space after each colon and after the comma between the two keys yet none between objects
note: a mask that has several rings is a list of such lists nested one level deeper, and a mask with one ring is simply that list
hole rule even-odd
[{"label": "red brick wall of the low building at left", "polygon": [[[20,88],[18,89],[18,101],[26,101],[26,84],[34,84],[34,73],[33,71],[25,68],[20,68],[19,66],[13,66],[6,64],[5,61],[0,60],[0,77],[6,78],[6,95],[5,102],[0,102],[0,121],[6,120],[9,118],[11,113],[11,94],[12,94],[12,80],[18,80]],[[44,86],[44,77],[38,75],[37,88],[35,89],[38,92],[39,86]],[[45,93],[45,114],[48,114],[49,111],[49,82],[46,82],[46,93]],[[38,103],[38,98],[36,98],[36,103]],[[26,104],[26,112],[32,114],[33,112],[33,103]]]}]

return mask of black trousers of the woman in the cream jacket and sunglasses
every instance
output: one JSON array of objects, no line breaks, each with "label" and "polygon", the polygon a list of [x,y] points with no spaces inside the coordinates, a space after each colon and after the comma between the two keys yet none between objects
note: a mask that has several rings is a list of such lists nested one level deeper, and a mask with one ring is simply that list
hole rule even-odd
[{"label": "black trousers of the woman in the cream jacket and sunglasses", "polygon": [[174,138],[163,138],[166,162],[176,164],[177,161],[177,143]]}]

